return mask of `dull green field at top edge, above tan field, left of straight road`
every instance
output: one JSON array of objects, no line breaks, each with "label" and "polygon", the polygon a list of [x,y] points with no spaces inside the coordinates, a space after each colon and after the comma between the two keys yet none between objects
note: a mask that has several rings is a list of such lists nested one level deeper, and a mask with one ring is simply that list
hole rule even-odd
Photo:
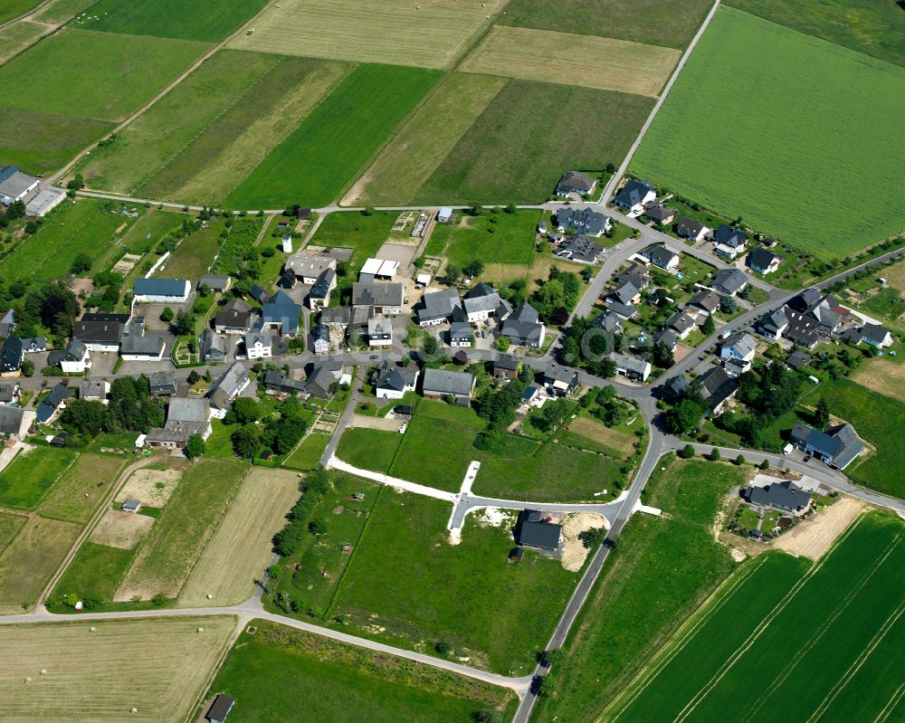
[{"label": "dull green field at top edge, above tan field, left of straight road", "polygon": [[546,30],[560,27],[565,13],[581,18],[580,23],[568,24],[569,33],[684,48],[704,22],[710,5],[707,0],[568,0],[565,5],[513,0],[496,22]]}]

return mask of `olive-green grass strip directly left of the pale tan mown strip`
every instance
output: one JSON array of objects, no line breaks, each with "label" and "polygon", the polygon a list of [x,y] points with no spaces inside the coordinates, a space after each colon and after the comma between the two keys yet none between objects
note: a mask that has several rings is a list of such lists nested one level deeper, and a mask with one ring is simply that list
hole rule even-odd
[{"label": "olive-green grass strip directly left of the pale tan mown strip", "polygon": [[138,548],[134,564],[117,591],[118,600],[148,598],[158,592],[176,597],[248,465],[241,461],[195,461]]}]

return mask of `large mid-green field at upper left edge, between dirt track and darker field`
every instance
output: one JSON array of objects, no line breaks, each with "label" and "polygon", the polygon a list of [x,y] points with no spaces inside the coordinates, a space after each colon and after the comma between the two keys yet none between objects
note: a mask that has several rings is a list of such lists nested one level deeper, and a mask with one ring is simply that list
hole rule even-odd
[{"label": "large mid-green field at upper left edge, between dirt track and darker field", "polygon": [[205,43],[67,29],[0,66],[3,106],[117,120],[150,100]]}]

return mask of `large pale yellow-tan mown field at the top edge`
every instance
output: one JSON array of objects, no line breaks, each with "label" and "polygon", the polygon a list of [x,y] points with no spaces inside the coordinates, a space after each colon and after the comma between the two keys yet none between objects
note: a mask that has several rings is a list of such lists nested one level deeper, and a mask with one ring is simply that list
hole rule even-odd
[{"label": "large pale yellow-tan mown field at the top edge", "polygon": [[448,68],[504,0],[286,0],[232,47],[357,62]]}]

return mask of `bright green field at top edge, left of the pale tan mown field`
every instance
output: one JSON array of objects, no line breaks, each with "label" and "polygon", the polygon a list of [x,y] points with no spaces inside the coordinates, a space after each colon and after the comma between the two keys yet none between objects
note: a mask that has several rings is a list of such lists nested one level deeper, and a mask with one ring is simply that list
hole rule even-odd
[{"label": "bright green field at top edge, left of the pale tan mown field", "polygon": [[91,19],[84,27],[216,43],[263,5],[263,0],[218,0],[216,5],[195,0],[100,0],[91,6]]}]

